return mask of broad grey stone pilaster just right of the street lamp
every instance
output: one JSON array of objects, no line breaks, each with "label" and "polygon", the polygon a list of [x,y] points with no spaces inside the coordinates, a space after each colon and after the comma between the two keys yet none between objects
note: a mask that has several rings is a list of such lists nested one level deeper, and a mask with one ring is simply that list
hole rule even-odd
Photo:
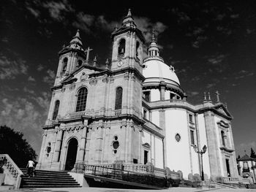
[{"label": "broad grey stone pilaster just right of the street lamp", "polygon": [[207,111],[204,113],[204,118],[206,123],[206,138],[208,142],[207,147],[208,147],[211,176],[219,177],[221,176],[221,171],[220,171],[219,147],[217,144],[217,132],[215,128],[214,115],[212,114],[211,111]]}]

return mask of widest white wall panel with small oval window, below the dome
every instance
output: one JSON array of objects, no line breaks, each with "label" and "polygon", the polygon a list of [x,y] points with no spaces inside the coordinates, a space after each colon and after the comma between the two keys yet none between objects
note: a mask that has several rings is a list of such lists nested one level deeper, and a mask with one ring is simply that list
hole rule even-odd
[{"label": "widest white wall panel with small oval window, below the dome", "polygon": [[[181,170],[184,178],[192,172],[189,153],[189,133],[187,126],[187,112],[185,110],[166,110],[166,164],[170,170]],[[175,139],[176,134],[181,135],[180,142]]]}]

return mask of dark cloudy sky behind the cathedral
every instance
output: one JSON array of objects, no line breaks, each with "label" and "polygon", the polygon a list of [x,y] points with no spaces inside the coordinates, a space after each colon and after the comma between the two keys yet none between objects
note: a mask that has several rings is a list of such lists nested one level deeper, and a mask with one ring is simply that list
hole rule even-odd
[{"label": "dark cloudy sky behind the cathedral", "polygon": [[0,125],[21,131],[39,155],[58,52],[77,29],[90,59],[111,58],[110,34],[132,10],[192,104],[215,91],[233,115],[236,155],[256,150],[256,1],[1,1]]}]

